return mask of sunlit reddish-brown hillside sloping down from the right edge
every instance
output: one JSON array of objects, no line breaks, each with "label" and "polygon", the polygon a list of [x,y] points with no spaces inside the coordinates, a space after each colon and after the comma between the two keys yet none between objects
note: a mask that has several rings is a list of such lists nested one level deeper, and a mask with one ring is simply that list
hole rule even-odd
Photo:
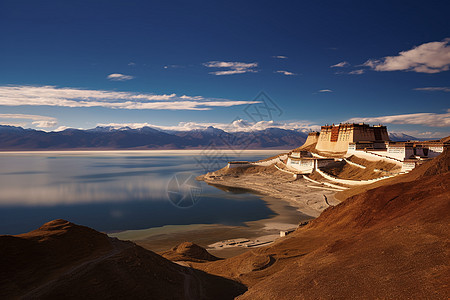
[{"label": "sunlit reddish-brown hillside sloping down from the right edge", "polygon": [[448,163],[446,152],[272,246],[194,266],[247,284],[239,299],[447,299]]}]

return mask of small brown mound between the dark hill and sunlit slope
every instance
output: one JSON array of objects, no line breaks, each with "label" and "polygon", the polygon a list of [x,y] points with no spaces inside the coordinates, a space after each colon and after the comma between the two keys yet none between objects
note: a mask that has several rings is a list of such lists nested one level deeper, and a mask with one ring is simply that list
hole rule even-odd
[{"label": "small brown mound between the dark hill and sunlit slope", "polygon": [[181,243],[170,250],[164,251],[161,255],[172,261],[204,262],[220,259],[210,254],[205,248],[191,242]]}]

